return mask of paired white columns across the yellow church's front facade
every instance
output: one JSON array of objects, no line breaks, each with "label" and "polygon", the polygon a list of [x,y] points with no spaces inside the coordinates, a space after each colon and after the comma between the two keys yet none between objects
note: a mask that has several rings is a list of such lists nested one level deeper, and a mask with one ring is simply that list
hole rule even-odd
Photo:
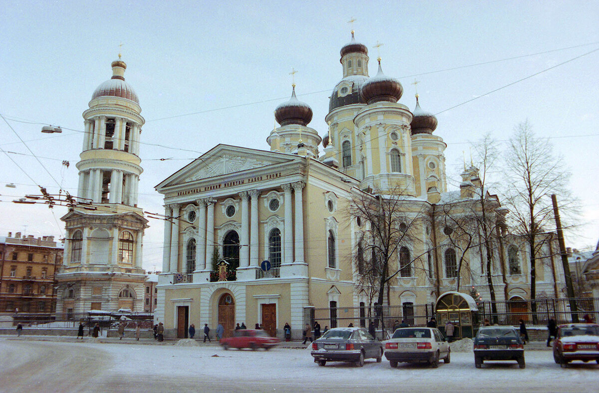
[{"label": "paired white columns across the yellow church's front facade", "polygon": [[[284,239],[285,247],[283,264],[304,262],[304,213],[302,190],[304,182],[283,184],[283,205],[285,206]],[[292,215],[292,190],[295,193],[295,215]],[[242,191],[238,194],[241,198],[241,233],[240,233],[240,255],[239,267],[259,267],[258,239],[258,200],[261,190]],[[222,239],[214,239],[214,206],[216,199],[205,198],[196,200],[198,232],[196,233],[196,272],[211,270],[210,260],[214,254],[214,247],[222,242]],[[172,217],[165,220],[164,227],[164,251],[162,255],[162,272],[176,273],[179,263],[179,216],[181,205],[172,203],[165,206],[165,215]],[[295,223],[295,232],[293,230]],[[295,245],[295,247],[294,247]],[[294,259],[295,252],[295,259]]]}]

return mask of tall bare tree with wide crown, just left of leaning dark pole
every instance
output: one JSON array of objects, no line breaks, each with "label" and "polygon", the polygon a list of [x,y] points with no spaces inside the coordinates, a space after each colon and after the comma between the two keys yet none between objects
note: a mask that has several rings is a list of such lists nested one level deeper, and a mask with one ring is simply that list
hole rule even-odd
[{"label": "tall bare tree with wide crown, just left of leaning dark pole", "polygon": [[[567,190],[570,173],[563,160],[553,154],[547,139],[538,138],[528,121],[516,126],[509,142],[506,160],[506,204],[510,209],[510,227],[525,239],[530,254],[530,298],[536,298],[537,261],[541,248],[550,236],[553,224],[551,195],[569,199]],[[562,203],[567,206],[567,203]],[[567,207],[566,207],[567,209]],[[536,303],[531,302],[533,321],[536,322]]]}]

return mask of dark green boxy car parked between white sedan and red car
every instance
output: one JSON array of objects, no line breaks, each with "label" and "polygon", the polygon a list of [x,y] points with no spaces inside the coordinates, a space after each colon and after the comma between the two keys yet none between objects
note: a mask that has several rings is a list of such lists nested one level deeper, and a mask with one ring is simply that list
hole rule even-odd
[{"label": "dark green boxy car parked between white sedan and red car", "polygon": [[524,343],[513,326],[484,326],[474,337],[474,366],[485,360],[515,360],[525,368]]}]

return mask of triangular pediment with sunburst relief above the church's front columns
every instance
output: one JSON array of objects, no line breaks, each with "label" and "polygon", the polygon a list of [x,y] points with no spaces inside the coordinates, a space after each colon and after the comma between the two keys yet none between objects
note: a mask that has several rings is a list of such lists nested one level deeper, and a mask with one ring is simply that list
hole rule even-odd
[{"label": "triangular pediment with sunburst relief above the church's front columns", "polygon": [[295,160],[301,157],[221,144],[156,185],[156,190]]}]

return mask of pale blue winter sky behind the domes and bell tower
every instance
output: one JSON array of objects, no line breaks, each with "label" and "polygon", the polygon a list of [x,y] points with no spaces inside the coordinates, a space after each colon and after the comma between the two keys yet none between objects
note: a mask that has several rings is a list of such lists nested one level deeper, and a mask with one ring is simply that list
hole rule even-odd
[{"label": "pale blue winter sky behind the domes and bell tower", "polygon": [[[50,193],[58,193],[60,184],[76,194],[81,113],[95,88],[111,77],[120,42],[125,78],[146,118],[138,206],[164,213],[153,187],[199,154],[219,143],[268,150],[274,108],[291,94],[292,68],[298,70],[299,99],[314,112],[309,125],[325,135],[328,97],[342,76],[339,50],[350,39],[347,21],[355,17],[356,39],[369,49],[370,74],[376,74],[380,52],[385,74],[403,84],[401,103],[415,106],[417,78],[422,108],[442,112],[435,134],[447,143],[449,188],[459,184],[468,142],[486,132],[504,141],[528,119],[563,156],[573,193],[583,204],[581,220],[589,223],[579,233],[567,233],[567,245],[594,248],[599,238],[599,51],[594,51],[599,49],[599,2],[216,3],[1,2],[0,114],[14,132],[0,119],[0,146],[27,174],[0,153],[0,235],[63,236],[59,218],[65,208],[52,212],[11,201],[38,194],[34,184]],[[379,51],[377,41],[383,44]],[[447,69],[452,70],[441,71]],[[45,124],[65,130],[40,133]],[[17,135],[44,166],[28,156]],[[68,160],[68,168],[62,160]],[[10,183],[16,188],[5,187]],[[161,269],[164,223],[151,220],[150,226],[144,268]]]}]

